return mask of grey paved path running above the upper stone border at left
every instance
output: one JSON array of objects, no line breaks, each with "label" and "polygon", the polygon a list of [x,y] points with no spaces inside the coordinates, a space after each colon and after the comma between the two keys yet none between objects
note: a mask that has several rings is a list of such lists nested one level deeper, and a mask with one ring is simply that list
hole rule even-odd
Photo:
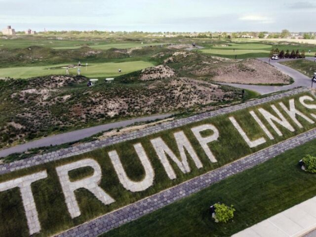
[{"label": "grey paved path running above the upper stone border at left", "polygon": [[109,129],[125,127],[135,122],[144,122],[144,121],[152,121],[155,119],[168,118],[171,115],[172,114],[165,114],[165,115],[155,115],[155,116],[149,116],[149,117],[143,117],[143,118],[133,118],[130,120],[107,123],[107,124],[94,126],[94,127],[88,127],[88,128],[84,128],[84,129],[80,129],[80,130],[76,130],[72,132],[52,135],[52,136],[41,138],[39,140],[17,145],[8,149],[0,150],[0,157],[6,157],[13,153],[25,152],[32,148],[47,147],[50,145],[54,146],[54,145],[60,145],[60,144],[69,143],[69,142],[75,142],[80,139],[90,137],[94,134],[97,134],[99,132],[106,131]]}]

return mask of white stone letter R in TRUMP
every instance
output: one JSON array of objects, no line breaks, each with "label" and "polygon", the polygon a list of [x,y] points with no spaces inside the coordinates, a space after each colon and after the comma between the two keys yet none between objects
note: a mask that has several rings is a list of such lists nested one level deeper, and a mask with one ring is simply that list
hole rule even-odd
[{"label": "white stone letter R in TRUMP", "polygon": [[[78,169],[81,167],[90,166],[94,169],[94,173],[92,176],[71,182],[69,179],[68,172],[74,169]],[[68,211],[72,218],[80,216],[81,212],[79,209],[79,205],[75,196],[75,190],[84,188],[89,190],[92,194],[95,195],[100,201],[102,201],[105,205],[108,205],[115,200],[106,194],[99,186],[98,183],[101,180],[101,168],[100,165],[94,159],[82,159],[73,163],[65,164],[56,167],[56,171],[60,180],[61,187],[63,189],[63,193],[65,195],[66,205],[68,207]]]}]

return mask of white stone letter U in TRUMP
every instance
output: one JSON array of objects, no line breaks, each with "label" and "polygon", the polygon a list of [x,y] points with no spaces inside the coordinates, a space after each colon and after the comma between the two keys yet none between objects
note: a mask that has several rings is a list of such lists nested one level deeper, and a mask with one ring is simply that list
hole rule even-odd
[{"label": "white stone letter U in TRUMP", "polygon": [[134,182],[127,177],[123,165],[118,157],[117,151],[111,151],[108,154],[114,169],[118,174],[119,182],[123,185],[123,187],[131,192],[140,192],[153,185],[155,172],[142,144],[137,143],[134,145],[134,148],[145,170],[145,178],[140,182]]}]

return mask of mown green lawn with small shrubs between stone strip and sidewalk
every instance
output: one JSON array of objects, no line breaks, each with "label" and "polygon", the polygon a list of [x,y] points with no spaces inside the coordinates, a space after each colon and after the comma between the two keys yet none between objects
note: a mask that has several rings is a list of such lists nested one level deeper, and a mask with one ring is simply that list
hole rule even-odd
[{"label": "mown green lawn with small shrubs between stone strip and sidewalk", "polygon": [[[250,170],[176,201],[102,237],[229,237],[316,196],[316,174],[300,169],[298,160],[316,155],[316,140],[287,151]],[[218,224],[208,207],[233,204],[233,221]]]}]

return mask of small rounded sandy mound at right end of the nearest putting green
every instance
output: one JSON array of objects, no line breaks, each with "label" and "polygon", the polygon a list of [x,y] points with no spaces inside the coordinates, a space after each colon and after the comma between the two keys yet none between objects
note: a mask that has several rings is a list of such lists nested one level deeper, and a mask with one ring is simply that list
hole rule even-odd
[{"label": "small rounded sandy mound at right end of the nearest putting green", "polygon": [[171,78],[175,75],[174,71],[165,65],[159,65],[157,67],[146,68],[141,73],[141,80],[154,80]]}]

